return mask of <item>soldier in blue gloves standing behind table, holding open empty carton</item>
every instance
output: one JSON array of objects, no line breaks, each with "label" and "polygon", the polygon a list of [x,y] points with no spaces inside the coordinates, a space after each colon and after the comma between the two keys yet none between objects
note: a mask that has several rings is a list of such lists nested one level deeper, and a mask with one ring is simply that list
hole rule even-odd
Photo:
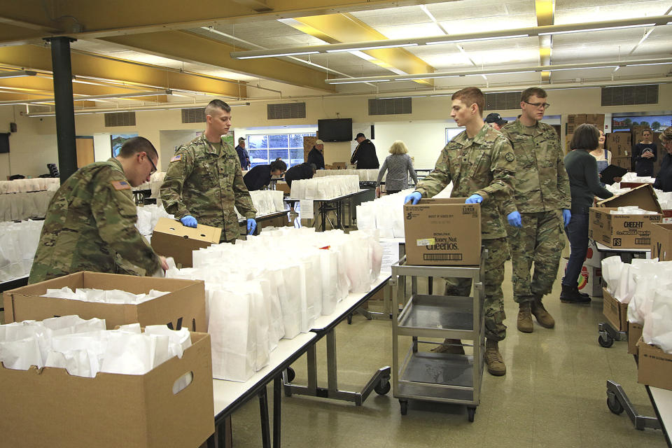
[{"label": "soldier in blue gloves standing behind table, holding open empty carton", "polygon": [[198,222],[221,228],[221,241],[233,242],[240,236],[234,207],[247,218],[249,233],[256,228],[257,211],[243,182],[238,154],[221,137],[231,126],[230,106],[214,99],[205,113],[205,132],[180,146],[170,160],[161,200],[184,225],[196,227]]}]

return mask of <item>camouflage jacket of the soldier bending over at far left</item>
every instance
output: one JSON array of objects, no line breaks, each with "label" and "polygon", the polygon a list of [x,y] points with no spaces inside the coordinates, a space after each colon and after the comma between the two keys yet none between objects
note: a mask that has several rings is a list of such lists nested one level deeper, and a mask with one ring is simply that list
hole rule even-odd
[{"label": "camouflage jacket of the soldier bending over at far left", "polygon": [[114,273],[116,255],[154,274],[158,255],[136,221],[131,186],[118,160],[79,169],[49,203],[29,283],[79,271]]}]

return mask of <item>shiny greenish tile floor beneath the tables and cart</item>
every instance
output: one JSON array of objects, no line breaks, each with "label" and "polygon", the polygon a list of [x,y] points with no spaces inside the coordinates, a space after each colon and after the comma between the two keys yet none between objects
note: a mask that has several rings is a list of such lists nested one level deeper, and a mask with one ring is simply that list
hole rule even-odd
[{"label": "shiny greenish tile floor beneath the tables and cart", "polygon": [[[533,333],[521,333],[516,329],[517,305],[507,262],[503,290],[509,328],[500,343],[507,374],[484,374],[473,423],[464,407],[433,402],[411,402],[402,416],[392,392],[372,393],[361,407],[294,395],[282,400],[283,446],[664,447],[659,430],[635,430],[625,414],[615,415],[607,408],[605,382],[612,379],[622,384],[640,414],[653,415],[644,386],[637,384],[626,342],[615,342],[610,349],[597,343],[601,299],[589,307],[561,304],[559,279],[545,300],[556,328],[535,325]],[[344,390],[360,390],[379,367],[392,365],[390,321],[354,316],[352,325],[338,325],[336,339],[339,386]],[[324,339],[317,346],[319,384],[326,386]],[[305,356],[293,365],[296,384],[305,384],[305,365]],[[272,386],[268,393],[272,406]],[[233,414],[235,448],[260,446],[259,421],[256,399]]]}]

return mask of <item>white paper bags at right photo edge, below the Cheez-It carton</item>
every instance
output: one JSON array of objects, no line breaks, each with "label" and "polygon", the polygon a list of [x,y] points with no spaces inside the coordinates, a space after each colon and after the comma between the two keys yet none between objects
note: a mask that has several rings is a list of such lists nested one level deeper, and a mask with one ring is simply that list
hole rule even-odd
[{"label": "white paper bags at right photo edge, below the Cheez-It carton", "polygon": [[643,341],[672,353],[672,261],[609,257],[602,276],[609,293],[628,304],[628,321],[643,325]]}]

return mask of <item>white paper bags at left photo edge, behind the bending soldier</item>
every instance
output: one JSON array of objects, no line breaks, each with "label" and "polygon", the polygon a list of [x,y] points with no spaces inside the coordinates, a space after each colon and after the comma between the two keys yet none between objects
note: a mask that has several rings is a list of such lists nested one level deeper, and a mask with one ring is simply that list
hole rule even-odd
[{"label": "white paper bags at left photo edge, behind the bending soldier", "polygon": [[44,221],[0,223],[0,282],[30,274]]}]

